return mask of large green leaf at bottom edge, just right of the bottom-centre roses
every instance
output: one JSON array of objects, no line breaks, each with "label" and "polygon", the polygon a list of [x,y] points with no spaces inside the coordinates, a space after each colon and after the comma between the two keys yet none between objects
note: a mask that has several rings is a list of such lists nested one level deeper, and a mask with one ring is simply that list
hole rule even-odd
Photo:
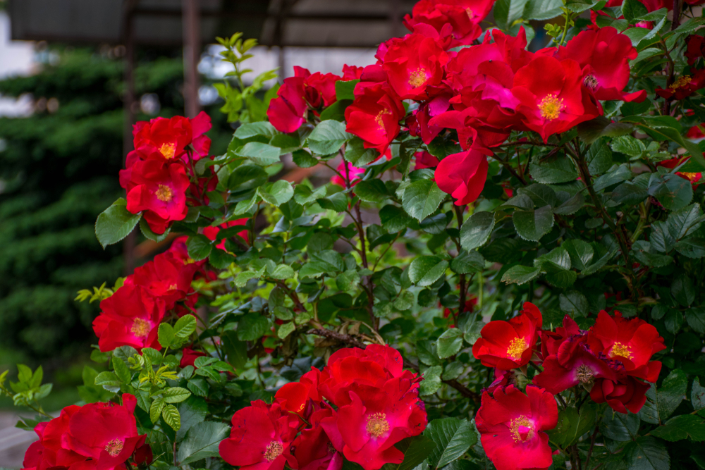
[{"label": "large green leaf at bottom edge, just right of the bottom-centre roses", "polygon": [[430,468],[446,466],[462,457],[471,445],[477,443],[472,423],[458,418],[434,419],[424,435],[436,444],[428,458]]}]

